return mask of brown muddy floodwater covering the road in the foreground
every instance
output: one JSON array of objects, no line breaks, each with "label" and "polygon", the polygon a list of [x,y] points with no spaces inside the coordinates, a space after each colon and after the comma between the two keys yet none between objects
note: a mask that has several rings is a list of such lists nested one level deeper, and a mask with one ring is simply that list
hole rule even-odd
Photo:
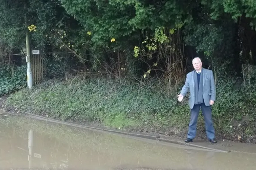
[{"label": "brown muddy floodwater covering the road in the foreground", "polygon": [[0,118],[0,169],[255,169],[256,155],[139,140],[26,117]]}]

